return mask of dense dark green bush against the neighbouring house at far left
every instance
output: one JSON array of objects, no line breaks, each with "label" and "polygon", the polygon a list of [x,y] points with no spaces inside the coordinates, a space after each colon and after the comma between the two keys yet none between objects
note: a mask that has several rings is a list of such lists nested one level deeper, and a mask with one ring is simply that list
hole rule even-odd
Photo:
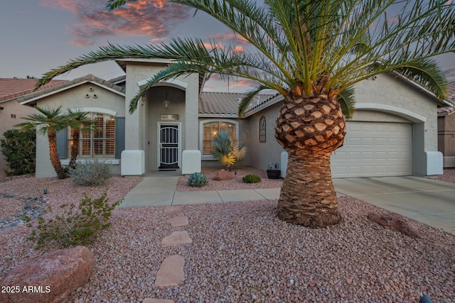
[{"label": "dense dark green bush against the neighbouring house at far left", "polygon": [[5,157],[9,170],[6,175],[26,175],[35,172],[36,133],[10,129],[0,140],[1,153]]}]

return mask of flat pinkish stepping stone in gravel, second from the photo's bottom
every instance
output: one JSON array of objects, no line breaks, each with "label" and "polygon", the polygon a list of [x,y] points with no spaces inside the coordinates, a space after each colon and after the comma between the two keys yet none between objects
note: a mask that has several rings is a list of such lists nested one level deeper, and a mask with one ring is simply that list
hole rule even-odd
[{"label": "flat pinkish stepping stone in gravel, second from the photo's bottom", "polygon": [[185,259],[181,255],[171,255],[164,259],[156,272],[154,287],[182,285],[183,279],[185,279],[184,265]]}]

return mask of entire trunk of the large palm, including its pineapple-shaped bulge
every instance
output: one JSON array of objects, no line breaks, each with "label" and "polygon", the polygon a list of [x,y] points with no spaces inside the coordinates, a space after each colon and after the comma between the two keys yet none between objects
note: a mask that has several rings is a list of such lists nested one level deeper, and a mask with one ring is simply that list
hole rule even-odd
[{"label": "entire trunk of the large palm, including its pineapple-shaped bulge", "polygon": [[331,153],[341,145],[346,123],[336,94],[289,95],[279,112],[275,137],[289,155],[277,215],[312,228],[338,224]]}]

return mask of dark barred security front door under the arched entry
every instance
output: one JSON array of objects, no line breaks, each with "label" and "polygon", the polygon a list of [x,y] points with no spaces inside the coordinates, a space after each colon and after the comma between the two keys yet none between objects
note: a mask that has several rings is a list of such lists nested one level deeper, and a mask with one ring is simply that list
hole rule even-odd
[{"label": "dark barred security front door under the arched entry", "polygon": [[159,169],[178,168],[180,154],[180,124],[159,123]]}]

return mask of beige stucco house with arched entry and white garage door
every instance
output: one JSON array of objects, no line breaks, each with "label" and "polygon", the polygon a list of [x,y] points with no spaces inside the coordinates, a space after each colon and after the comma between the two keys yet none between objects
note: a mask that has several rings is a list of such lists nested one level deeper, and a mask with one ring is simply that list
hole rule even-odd
[{"label": "beige stucco house with arched entry and white garage door", "polygon": [[[87,75],[16,100],[28,106],[89,111],[98,131],[82,137],[80,158],[107,159],[117,174],[176,167],[188,173],[200,165],[217,165],[210,156],[210,139],[220,129],[230,129],[247,145],[245,165],[267,169],[277,162],[284,167],[286,154],[274,138],[281,96],[259,95],[239,119],[237,101],[242,95],[203,92],[205,75],[194,74],[151,87],[129,114],[129,100],[171,61],[127,59],[117,64],[123,77],[105,81]],[[347,123],[343,147],[333,155],[334,177],[442,173],[436,113],[449,103],[393,73],[364,80],[355,89],[357,111]],[[69,161],[69,135],[70,130],[59,134],[63,164]],[[37,145],[36,176],[55,175],[46,139],[38,138]]]}]

